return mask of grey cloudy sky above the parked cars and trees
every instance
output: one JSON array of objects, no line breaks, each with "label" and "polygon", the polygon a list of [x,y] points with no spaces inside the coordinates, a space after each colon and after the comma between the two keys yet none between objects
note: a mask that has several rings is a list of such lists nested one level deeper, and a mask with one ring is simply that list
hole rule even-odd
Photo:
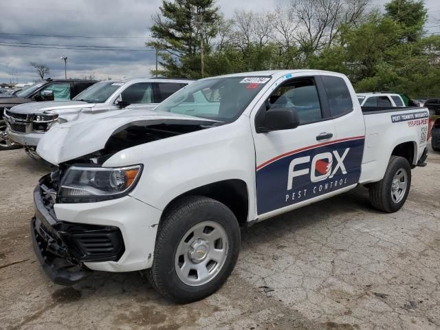
[{"label": "grey cloudy sky above the parked cars and trees", "polygon": [[[289,0],[217,0],[217,3],[226,17],[232,17],[236,9],[270,10],[280,1]],[[375,0],[380,8],[385,2]],[[69,77],[82,78],[90,74],[98,79],[149,76],[155,65],[155,55],[146,52],[143,45],[148,39],[151,15],[157,12],[160,3],[160,0],[1,1],[0,83],[25,83],[36,79],[30,61],[48,65],[48,76],[63,78],[61,56],[68,57]],[[426,0],[426,6],[430,14],[427,25],[432,26],[428,30],[440,33],[439,0]],[[55,35],[111,38],[50,37]],[[12,47],[17,43],[32,47]],[[41,49],[32,45],[41,43],[51,44],[50,47],[54,48]],[[59,49],[69,45],[131,48],[114,51]]]}]

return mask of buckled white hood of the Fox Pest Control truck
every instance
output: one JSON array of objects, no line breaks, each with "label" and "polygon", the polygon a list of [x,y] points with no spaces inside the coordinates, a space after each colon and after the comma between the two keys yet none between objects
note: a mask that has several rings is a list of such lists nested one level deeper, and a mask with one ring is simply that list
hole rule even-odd
[{"label": "buckled white hood of the Fox Pest Control truck", "polygon": [[36,152],[47,162],[58,165],[100,151],[109,137],[128,126],[153,124],[212,124],[213,120],[178,113],[146,109],[127,110],[96,120],[66,122],[50,129],[40,140]]}]

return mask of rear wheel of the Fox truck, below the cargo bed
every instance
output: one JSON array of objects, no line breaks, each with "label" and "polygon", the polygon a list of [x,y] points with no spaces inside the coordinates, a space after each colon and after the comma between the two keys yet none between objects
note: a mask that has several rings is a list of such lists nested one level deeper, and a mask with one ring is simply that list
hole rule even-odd
[{"label": "rear wheel of the Fox truck, below the cargo bed", "polygon": [[391,156],[384,179],[369,187],[373,208],[384,212],[400,210],[408,197],[411,186],[411,168],[404,157]]}]

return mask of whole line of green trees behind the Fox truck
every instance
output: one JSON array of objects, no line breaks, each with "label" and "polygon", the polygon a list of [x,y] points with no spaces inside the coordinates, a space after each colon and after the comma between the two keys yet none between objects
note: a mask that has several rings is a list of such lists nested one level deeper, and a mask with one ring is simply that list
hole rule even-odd
[{"label": "whole line of green trees behind the Fox truck", "polygon": [[[440,96],[440,36],[423,37],[427,19],[423,1],[391,0],[385,8],[385,14],[370,12],[356,24],[340,23],[331,42],[313,50],[307,42],[295,42],[292,13],[284,21],[271,14],[270,21],[256,19],[252,12],[224,21],[214,0],[163,1],[163,17],[156,17],[151,29],[154,41],[147,45],[161,51],[159,74],[199,78],[200,34],[195,17],[203,12],[206,76],[313,68],[347,74],[357,91]],[[251,25],[255,22],[260,25]],[[276,22],[284,25],[274,26]],[[277,38],[268,30],[285,34]]]}]

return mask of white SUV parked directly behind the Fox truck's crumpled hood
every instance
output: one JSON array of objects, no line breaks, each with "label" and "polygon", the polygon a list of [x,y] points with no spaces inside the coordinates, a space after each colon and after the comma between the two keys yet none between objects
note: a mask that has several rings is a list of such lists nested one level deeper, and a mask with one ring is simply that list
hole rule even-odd
[{"label": "white SUV parked directly behind the Fox truck's crumpled hood", "polygon": [[190,80],[136,78],[105,80],[78,94],[72,101],[21,104],[5,109],[10,140],[25,146],[31,157],[44,133],[55,124],[105,116],[109,111],[153,108]]}]

